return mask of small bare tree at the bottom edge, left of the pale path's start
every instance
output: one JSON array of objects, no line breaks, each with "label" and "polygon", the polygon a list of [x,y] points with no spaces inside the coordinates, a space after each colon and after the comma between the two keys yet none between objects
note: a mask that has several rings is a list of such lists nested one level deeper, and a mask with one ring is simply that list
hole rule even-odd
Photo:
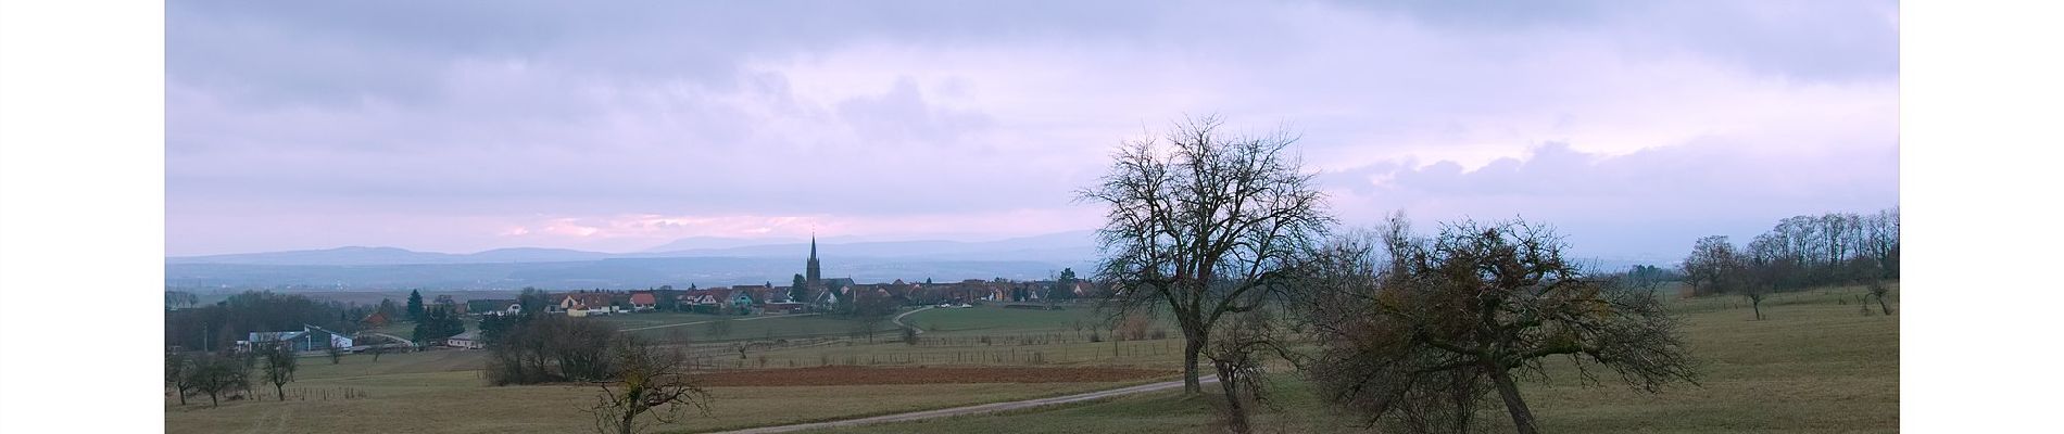
[{"label": "small bare tree at the bottom edge, left of the pale path's start", "polygon": [[[652,422],[673,424],[685,407],[710,413],[710,393],[689,381],[694,366],[681,348],[619,335],[611,343],[611,362],[617,378],[594,383],[603,395],[588,409],[596,432],[632,434]],[[652,418],[640,418],[648,413]]]}]

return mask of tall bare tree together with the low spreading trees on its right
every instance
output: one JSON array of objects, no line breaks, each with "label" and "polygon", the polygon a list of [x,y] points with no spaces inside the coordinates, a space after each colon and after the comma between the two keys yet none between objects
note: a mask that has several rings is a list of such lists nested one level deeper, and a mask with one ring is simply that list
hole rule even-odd
[{"label": "tall bare tree together with the low spreading trees on its right", "polygon": [[[1323,195],[1286,148],[1288,134],[1226,136],[1216,117],[1162,140],[1123,144],[1082,202],[1108,208],[1098,230],[1102,309],[1172,315],[1185,339],[1185,391],[1199,358],[1224,391],[1226,428],[1267,403],[1269,356],[1323,397],[1404,432],[1470,432],[1496,391],[1534,432],[1519,376],[1567,356],[1639,389],[1695,381],[1676,317],[1631,276],[1565,259],[1544,224],[1453,222],[1422,237],[1397,216],[1381,230],[1331,234]],[[1593,378],[1593,370],[1579,370]]]}]

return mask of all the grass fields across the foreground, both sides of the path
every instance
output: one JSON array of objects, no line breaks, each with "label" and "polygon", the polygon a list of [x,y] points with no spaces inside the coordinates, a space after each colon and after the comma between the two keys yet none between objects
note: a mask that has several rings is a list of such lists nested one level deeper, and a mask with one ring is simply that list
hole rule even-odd
[{"label": "all the grass fields across the foreground, both sides of the path", "polygon": [[[1808,290],[1765,300],[1765,321],[1752,321],[1742,298],[1672,300],[1686,319],[1692,354],[1703,360],[1701,387],[1657,395],[1622,385],[1581,385],[1569,366],[1521,391],[1548,432],[1891,432],[1899,428],[1899,317],[1858,311],[1860,288]],[[1876,304],[1870,304],[1876,309]],[[1897,311],[1897,296],[1893,298]],[[766,335],[842,337],[850,321],[832,317],[714,317],[646,313],[619,315],[619,327],[654,327],[731,319],[727,341]],[[737,321],[751,319],[751,321]],[[1090,309],[933,309],[906,317],[929,329],[921,346],[888,331],[877,343],[821,341],[803,348],[753,350],[745,360],[720,354],[724,368],[786,366],[1139,366],[1179,368],[1179,339],[1088,341],[1102,323]],[[708,341],[706,323],[634,333],[681,333]],[[883,323],[883,327],[892,327]],[[1166,327],[1166,325],[1160,325]],[[1172,331],[1172,327],[1170,327]],[[985,343],[987,337],[987,343]],[[819,341],[819,339],[811,339]],[[710,348],[729,346],[724,341]],[[305,401],[233,401],[219,409],[178,405],[167,397],[167,432],[590,432],[580,409],[590,387],[487,387],[479,376],[485,352],[415,352],[301,358],[291,393]],[[1608,378],[1610,381],[1610,378]],[[1133,381],[1139,383],[1139,381]],[[1280,411],[1257,415],[1265,432],[1360,432],[1354,415],[1323,405],[1294,374],[1273,378]],[[850,387],[718,387],[710,418],[689,418],[658,432],[727,430],[815,420],[842,420],[914,409],[958,407],[1112,389],[1129,383],[1036,385],[850,385]],[[365,395],[343,399],[343,395]],[[328,397],[328,399],[324,399]],[[1148,393],[999,415],[848,428],[840,432],[1201,432],[1212,430],[1212,399]],[[1492,430],[1503,407],[1486,407]]]}]

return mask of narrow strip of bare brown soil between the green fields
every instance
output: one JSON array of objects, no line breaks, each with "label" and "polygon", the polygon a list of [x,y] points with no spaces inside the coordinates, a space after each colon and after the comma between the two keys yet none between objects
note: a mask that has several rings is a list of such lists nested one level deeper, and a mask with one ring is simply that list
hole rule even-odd
[{"label": "narrow strip of bare brown soil between the green fields", "polygon": [[700,374],[704,387],[844,387],[844,385],[943,385],[943,383],[1112,383],[1170,376],[1174,370],[1143,368],[982,368],[982,366],[916,366],[861,368],[817,366],[778,370],[729,370]]}]

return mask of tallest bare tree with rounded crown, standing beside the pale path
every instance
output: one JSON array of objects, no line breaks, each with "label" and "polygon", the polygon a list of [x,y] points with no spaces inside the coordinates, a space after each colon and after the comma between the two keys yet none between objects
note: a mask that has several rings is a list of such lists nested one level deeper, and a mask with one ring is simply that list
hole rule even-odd
[{"label": "tallest bare tree with rounded crown, standing beside the pale path", "polygon": [[1228,313],[1261,309],[1286,267],[1333,220],[1284,154],[1290,134],[1228,136],[1218,117],[1176,123],[1166,140],[1123,144],[1110,173],[1077,191],[1108,206],[1098,280],[1117,286],[1112,321],[1166,309],[1183,329],[1183,391],[1203,393],[1197,358]]}]

